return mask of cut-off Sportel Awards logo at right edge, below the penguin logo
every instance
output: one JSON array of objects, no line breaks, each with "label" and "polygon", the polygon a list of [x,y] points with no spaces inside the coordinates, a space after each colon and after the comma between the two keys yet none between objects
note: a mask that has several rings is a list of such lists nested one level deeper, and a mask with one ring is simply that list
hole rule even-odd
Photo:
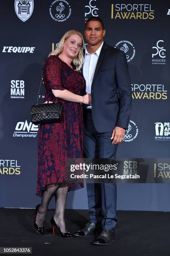
[{"label": "cut-off Sportel Awards logo at right edge, below the penguin logo", "polygon": [[170,160],[165,160],[167,162],[154,163],[154,178],[170,179]]}]

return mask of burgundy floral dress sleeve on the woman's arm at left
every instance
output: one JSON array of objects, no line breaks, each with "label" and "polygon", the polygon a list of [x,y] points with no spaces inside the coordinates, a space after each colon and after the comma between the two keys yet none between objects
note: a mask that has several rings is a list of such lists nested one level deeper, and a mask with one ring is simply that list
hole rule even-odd
[{"label": "burgundy floral dress sleeve on the woman's arm at left", "polygon": [[55,55],[50,55],[43,68],[43,79],[47,89],[65,90],[61,82],[61,69],[60,59]]}]

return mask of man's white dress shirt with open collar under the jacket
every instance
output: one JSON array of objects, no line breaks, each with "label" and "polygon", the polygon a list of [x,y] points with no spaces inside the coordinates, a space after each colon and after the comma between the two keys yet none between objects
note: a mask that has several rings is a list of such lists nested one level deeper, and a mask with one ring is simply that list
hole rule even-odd
[{"label": "man's white dress shirt with open collar under the jacket", "polygon": [[[97,65],[97,61],[100,55],[100,51],[102,49],[102,44],[93,54],[89,54],[87,49],[85,49],[85,60],[83,64],[83,76],[86,82],[86,93],[91,93],[92,87],[92,79],[95,73],[95,68]],[[92,108],[92,106],[88,106],[87,108]]]}]

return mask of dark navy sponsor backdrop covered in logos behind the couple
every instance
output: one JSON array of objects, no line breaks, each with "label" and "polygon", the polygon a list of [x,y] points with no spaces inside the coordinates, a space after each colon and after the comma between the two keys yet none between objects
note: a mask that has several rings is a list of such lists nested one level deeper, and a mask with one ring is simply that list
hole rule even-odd
[{"label": "dark navy sponsor backdrop covered in logos behind the couple", "polygon": [[[0,207],[40,202],[35,195],[39,127],[30,122],[30,107],[41,68],[62,35],[70,29],[84,33],[93,15],[104,22],[105,42],[124,51],[129,66],[132,113],[117,158],[157,159],[153,177],[163,182],[118,184],[117,209],[170,211],[169,1],[9,0],[0,3],[0,13]],[[42,86],[39,102],[43,98]],[[130,161],[126,166],[135,172]],[[67,207],[87,209],[86,189],[69,192]]]}]

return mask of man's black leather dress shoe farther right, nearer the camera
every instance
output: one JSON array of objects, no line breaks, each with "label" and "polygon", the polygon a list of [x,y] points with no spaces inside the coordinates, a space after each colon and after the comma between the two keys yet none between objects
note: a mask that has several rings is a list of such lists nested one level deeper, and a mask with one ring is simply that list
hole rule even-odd
[{"label": "man's black leather dress shoe farther right, nearer the camera", "polygon": [[115,241],[114,230],[104,229],[102,233],[92,242],[96,245],[108,245]]}]

